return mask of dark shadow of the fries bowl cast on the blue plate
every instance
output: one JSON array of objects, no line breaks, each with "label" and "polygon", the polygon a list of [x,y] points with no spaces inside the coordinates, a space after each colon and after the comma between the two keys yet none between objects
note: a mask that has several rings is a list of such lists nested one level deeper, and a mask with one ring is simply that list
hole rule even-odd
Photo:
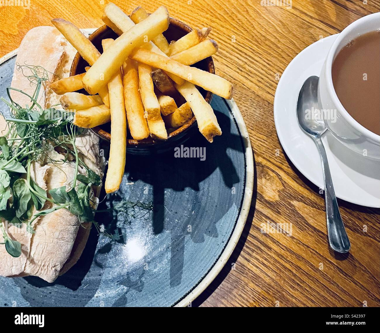
[{"label": "dark shadow of the fries bowl cast on the blue plate", "polygon": [[[171,241],[168,245],[171,251],[171,287],[178,286],[182,280],[185,250],[184,235],[188,234],[188,232],[186,232],[188,221],[186,219],[180,219],[179,221],[174,218],[168,219],[167,215],[170,215],[171,212],[165,206],[165,192],[167,190],[184,192],[186,188],[191,188],[193,191],[198,192],[199,184],[217,169],[219,169],[222,174],[223,184],[208,183],[207,185],[211,187],[209,189],[211,193],[217,193],[220,186],[233,188],[235,184],[244,181],[240,179],[237,174],[234,166],[235,161],[231,160],[229,154],[227,154],[228,149],[244,154],[242,138],[239,135],[231,133],[231,118],[219,112],[217,108],[215,108],[215,113],[222,127],[222,137],[215,138],[214,143],[210,144],[199,134],[198,129],[195,128],[192,137],[184,143],[184,147],[204,148],[206,151],[205,160],[175,157],[174,148],[173,151],[169,151],[165,154],[127,156],[125,173],[128,175],[128,181],[134,182],[135,185],[136,182],[142,181],[142,184],[149,184],[152,187],[152,230],[154,234],[160,234],[164,230],[169,231],[171,234]],[[140,188],[140,190],[143,191],[144,188]],[[207,201],[207,198],[203,198],[203,200]],[[195,243],[204,242],[206,235],[209,237],[217,237],[218,231],[215,224],[223,217],[225,210],[215,208],[213,211],[210,211],[209,214],[212,214],[212,223],[208,223],[196,217],[197,208],[201,210],[200,208],[205,206],[204,203],[196,202],[190,204],[193,204],[193,207],[195,206],[195,215],[192,218],[192,232],[190,233],[192,241]],[[223,203],[220,204],[222,205]],[[177,206],[180,213],[180,210],[184,208],[184,206],[187,207],[187,203],[180,202],[177,203]],[[185,211],[186,209],[183,210]],[[177,214],[178,212],[176,211],[174,213]],[[102,217],[102,220],[105,219],[105,217]],[[231,223],[232,222],[234,221],[231,221]],[[126,239],[124,239],[123,242],[125,243]],[[126,276],[123,283],[127,283],[126,286],[128,287],[136,286],[136,280],[131,280],[129,276]],[[120,302],[118,302],[118,304],[119,303]]]}]

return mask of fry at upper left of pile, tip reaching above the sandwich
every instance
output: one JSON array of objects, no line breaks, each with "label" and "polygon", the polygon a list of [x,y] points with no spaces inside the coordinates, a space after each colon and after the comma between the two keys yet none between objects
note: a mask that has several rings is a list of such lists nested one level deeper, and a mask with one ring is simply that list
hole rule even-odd
[{"label": "fry at upper left of pile, tip reaching above the sandwich", "polygon": [[100,57],[100,52],[97,48],[93,46],[92,42],[74,24],[64,19],[54,19],[51,20],[51,23],[65,36],[90,66]]}]

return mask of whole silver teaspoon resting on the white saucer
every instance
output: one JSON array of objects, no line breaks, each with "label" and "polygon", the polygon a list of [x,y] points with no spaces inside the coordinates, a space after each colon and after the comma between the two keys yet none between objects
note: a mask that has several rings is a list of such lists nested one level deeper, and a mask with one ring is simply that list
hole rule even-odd
[{"label": "whole silver teaspoon resting on the white saucer", "polygon": [[297,101],[297,118],[299,126],[313,138],[321,155],[323,177],[325,179],[327,234],[330,247],[339,253],[347,253],[350,251],[351,244],[340,216],[326,151],[321,140],[321,135],[326,132],[327,128],[323,117],[310,116],[313,110],[319,110],[318,80],[318,76],[310,76],[302,85]]}]

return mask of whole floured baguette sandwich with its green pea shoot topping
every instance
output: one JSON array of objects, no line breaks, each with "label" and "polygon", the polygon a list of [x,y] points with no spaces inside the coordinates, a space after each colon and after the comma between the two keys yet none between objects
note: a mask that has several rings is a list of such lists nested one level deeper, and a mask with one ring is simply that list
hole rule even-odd
[{"label": "whole floured baguette sandwich with its green pea shoot topping", "polygon": [[[9,90],[13,101],[11,111],[14,105],[17,110],[26,108],[31,120],[20,122],[17,118],[21,117],[18,116],[21,112],[13,113],[11,117],[0,116],[3,145],[0,152],[0,178],[3,177],[0,183],[0,243],[5,244],[0,245],[1,276],[33,275],[51,283],[78,261],[89,237],[91,214],[93,217],[97,207],[100,179],[105,169],[104,157],[99,154],[99,138],[91,130],[75,132],[70,121],[64,120],[59,113],[59,96],[50,88],[52,82],[69,76],[75,54],[76,50],[53,27],[36,27],[28,31],[18,49],[11,84],[13,89]],[[40,87],[38,94],[37,86]],[[51,119],[47,117],[49,112],[59,115]],[[38,120],[33,121],[33,117]],[[46,122],[40,119],[46,119]],[[55,132],[42,138],[38,145],[27,141],[30,138],[22,141],[19,150],[36,145],[38,156],[31,152],[30,156],[36,157],[25,157],[15,173],[15,169],[9,167],[13,163],[9,162],[9,150],[15,154],[14,142],[21,140],[24,127],[41,123],[38,127],[41,130]],[[9,132],[13,133],[9,130],[10,124],[17,131],[13,141],[9,139]],[[31,129],[32,125],[28,128]],[[64,140],[62,134],[66,135]],[[33,135],[35,132],[29,136]],[[70,143],[70,140],[73,141]],[[63,143],[58,145],[57,142]],[[30,199],[25,203],[25,198]],[[67,198],[67,204],[64,198]]]}]

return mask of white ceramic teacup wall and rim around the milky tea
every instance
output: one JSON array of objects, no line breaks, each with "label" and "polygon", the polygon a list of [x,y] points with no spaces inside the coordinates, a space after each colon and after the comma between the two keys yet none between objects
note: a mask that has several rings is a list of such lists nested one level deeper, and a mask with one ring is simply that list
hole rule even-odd
[{"label": "white ceramic teacup wall and rim around the milky tea", "polygon": [[364,16],[348,25],[332,44],[318,84],[318,101],[323,110],[336,110],[334,117],[325,118],[328,129],[335,138],[351,150],[380,161],[380,135],[359,124],[340,103],[332,84],[331,67],[334,58],[353,39],[380,28],[380,13]]}]

